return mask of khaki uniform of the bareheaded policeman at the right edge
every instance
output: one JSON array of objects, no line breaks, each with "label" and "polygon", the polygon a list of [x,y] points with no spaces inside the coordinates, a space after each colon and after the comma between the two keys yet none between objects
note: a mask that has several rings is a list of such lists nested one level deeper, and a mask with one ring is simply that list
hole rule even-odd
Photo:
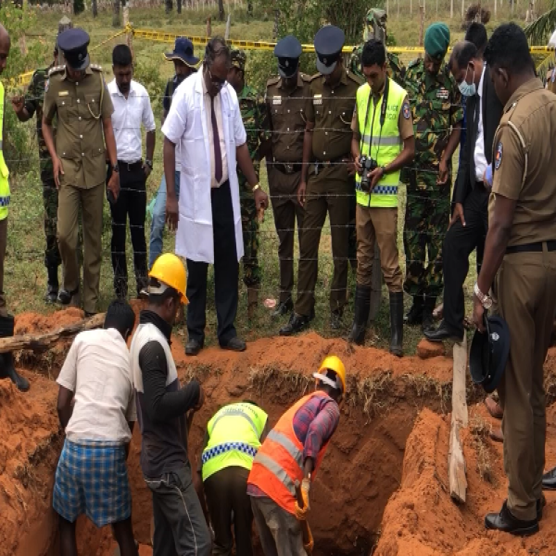
[{"label": "khaki uniform of the bareheaded policeman at the right edge", "polygon": [[509,326],[509,359],[498,393],[504,409],[508,508],[536,518],[546,434],[543,363],[556,316],[556,97],[539,79],[505,106],[493,142],[490,217],[500,195],[516,202],[497,276],[498,312]]}]

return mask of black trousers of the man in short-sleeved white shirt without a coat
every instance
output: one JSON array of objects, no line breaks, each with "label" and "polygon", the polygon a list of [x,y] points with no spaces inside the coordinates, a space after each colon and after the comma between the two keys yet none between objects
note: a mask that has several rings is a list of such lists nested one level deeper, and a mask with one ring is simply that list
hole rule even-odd
[{"label": "black trousers of the man in short-sleeved white shirt without a coat", "polygon": [[[129,217],[133,265],[137,293],[147,286],[147,242],[145,240],[145,216],[147,213],[147,177],[141,163],[128,165],[120,162],[120,196],[110,203],[112,215],[112,268],[116,297],[127,297],[126,228]],[[111,177],[108,169],[106,181]]]}]

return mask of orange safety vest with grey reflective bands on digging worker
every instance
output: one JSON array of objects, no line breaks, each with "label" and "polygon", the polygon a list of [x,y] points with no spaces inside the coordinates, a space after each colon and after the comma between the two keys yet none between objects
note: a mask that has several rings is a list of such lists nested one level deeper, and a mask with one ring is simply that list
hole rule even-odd
[{"label": "orange safety vest with grey reflective bands on digging worker", "polygon": [[[316,395],[328,398],[323,392],[313,392],[301,398],[281,416],[259,448],[247,479],[248,484],[257,486],[266,496],[290,514],[295,513],[295,480],[301,482],[304,476],[303,444],[295,436],[293,418],[297,410]],[[318,452],[312,473],[313,477],[316,475],[322,458],[325,457],[327,447],[328,443],[325,443]]]}]

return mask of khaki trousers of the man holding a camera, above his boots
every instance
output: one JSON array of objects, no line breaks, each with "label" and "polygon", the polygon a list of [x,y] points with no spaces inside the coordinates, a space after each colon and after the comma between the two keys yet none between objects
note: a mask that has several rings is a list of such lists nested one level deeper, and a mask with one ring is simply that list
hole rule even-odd
[{"label": "khaki trousers of the man holding a camera, above his boots", "polygon": [[[357,204],[357,284],[373,286],[375,239],[380,266],[391,293],[402,291],[402,270],[398,256],[398,207],[376,208]],[[377,269],[378,272],[378,269]]]}]

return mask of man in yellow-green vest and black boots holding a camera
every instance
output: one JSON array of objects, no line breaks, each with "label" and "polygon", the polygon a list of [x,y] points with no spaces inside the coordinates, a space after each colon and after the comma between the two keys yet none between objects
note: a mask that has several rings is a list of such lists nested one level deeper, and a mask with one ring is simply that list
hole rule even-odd
[{"label": "man in yellow-green vest and black boots holding a camera", "polygon": [[361,64],[367,83],[357,90],[352,120],[352,155],[357,169],[357,288],[348,339],[357,344],[365,341],[376,239],[390,292],[390,351],[401,357],[404,299],[398,259],[398,184],[402,167],[414,158],[414,129],[407,92],[386,74],[386,51],[380,40],[366,42]]}]

